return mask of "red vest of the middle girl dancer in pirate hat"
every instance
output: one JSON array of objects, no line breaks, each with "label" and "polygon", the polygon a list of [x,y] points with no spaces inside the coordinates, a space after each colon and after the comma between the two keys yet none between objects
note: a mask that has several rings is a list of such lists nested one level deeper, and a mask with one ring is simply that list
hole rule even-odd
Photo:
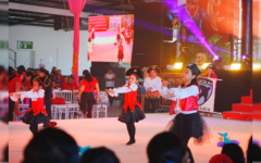
[{"label": "red vest of the middle girl dancer in pirate hat", "polygon": [[125,113],[127,112],[128,106],[133,112],[136,104],[142,110],[142,105],[137,101],[137,90],[125,93],[125,103],[123,105]]}]

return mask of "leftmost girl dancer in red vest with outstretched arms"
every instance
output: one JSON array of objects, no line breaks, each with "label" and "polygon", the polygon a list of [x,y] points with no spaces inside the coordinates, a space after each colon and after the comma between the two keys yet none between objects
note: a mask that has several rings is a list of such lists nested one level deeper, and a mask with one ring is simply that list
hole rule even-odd
[{"label": "leftmost girl dancer in red vest with outstretched arms", "polygon": [[18,98],[21,98],[21,100],[24,98],[32,99],[32,108],[28,109],[23,116],[23,122],[30,125],[29,129],[34,135],[38,133],[38,124],[44,123],[49,125],[50,123],[47,111],[44,108],[45,90],[42,89],[42,85],[44,84],[39,78],[35,78],[30,91],[10,93],[10,98],[13,101],[17,101]]}]

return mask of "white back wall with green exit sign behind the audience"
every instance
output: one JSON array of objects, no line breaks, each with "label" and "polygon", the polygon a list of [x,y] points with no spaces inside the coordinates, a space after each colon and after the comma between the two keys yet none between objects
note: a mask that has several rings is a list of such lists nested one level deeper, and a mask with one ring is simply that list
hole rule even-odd
[{"label": "white back wall with green exit sign behind the audience", "polygon": [[[73,30],[72,39],[73,39]],[[89,70],[91,64],[87,61],[88,32],[79,32],[79,75],[83,70]],[[52,66],[62,70],[63,75],[71,75],[73,65],[73,45],[70,32],[54,30],[51,27],[28,25],[9,26],[9,48],[16,51],[17,40],[33,41],[35,51],[35,68],[39,67],[40,59],[52,58],[52,64],[46,64],[51,71]],[[18,65],[17,65],[18,66]]]}]

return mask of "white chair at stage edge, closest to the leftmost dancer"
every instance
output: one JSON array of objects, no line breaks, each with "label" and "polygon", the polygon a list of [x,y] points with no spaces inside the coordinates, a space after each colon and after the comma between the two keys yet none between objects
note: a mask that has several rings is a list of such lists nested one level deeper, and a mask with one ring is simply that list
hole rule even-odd
[{"label": "white chair at stage edge, closest to the leftmost dancer", "polygon": [[[69,110],[66,104],[52,104],[52,115],[54,115],[53,120],[62,120],[62,115],[64,114],[65,120],[69,118]],[[55,118],[57,116],[57,118]]]}]

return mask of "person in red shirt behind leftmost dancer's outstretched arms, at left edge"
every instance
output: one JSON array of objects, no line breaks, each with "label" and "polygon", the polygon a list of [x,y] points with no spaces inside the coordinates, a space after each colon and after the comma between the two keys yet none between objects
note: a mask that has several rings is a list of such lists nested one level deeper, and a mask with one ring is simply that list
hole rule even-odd
[{"label": "person in red shirt behind leftmost dancer's outstretched arms, at left edge", "polygon": [[[9,93],[18,92],[22,89],[22,80],[24,78],[24,74],[22,71],[17,71],[12,75],[12,78],[9,78]],[[9,121],[14,120],[14,111],[17,112],[18,102],[14,102],[9,98]]]}]

